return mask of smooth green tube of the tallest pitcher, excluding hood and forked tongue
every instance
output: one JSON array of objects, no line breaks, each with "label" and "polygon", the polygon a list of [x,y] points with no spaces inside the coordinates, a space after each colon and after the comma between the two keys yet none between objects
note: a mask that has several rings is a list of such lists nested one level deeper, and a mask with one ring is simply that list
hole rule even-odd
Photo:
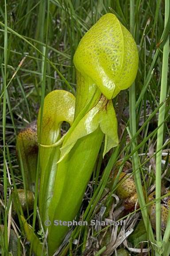
[{"label": "smooth green tube of the tallest pitcher, excluding hood and forked tongue", "polygon": [[[83,87],[87,94],[84,94],[85,97],[83,99],[77,95],[76,99],[79,107],[76,108],[75,118],[88,101],[90,86],[91,84],[88,83],[88,80],[77,79],[77,87]],[[95,92],[95,86],[93,87]],[[100,92],[94,94],[94,98],[97,100],[99,97]],[[103,137],[104,133],[98,127],[93,133],[77,140],[69,154],[58,163],[53,198],[48,212],[49,220],[51,221],[51,225],[48,228],[49,255],[53,255],[69,231],[67,226],[55,226],[54,220],[73,221],[75,219],[93,172]]]}]

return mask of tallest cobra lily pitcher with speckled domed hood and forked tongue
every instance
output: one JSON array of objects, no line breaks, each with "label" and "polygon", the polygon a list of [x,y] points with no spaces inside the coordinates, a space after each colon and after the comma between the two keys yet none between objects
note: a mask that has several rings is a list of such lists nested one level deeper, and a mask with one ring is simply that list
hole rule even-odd
[{"label": "tallest cobra lily pitcher with speckled domed hood and forked tongue", "polygon": [[[53,196],[47,216],[49,255],[60,246],[69,228],[55,225],[73,221],[104,138],[104,154],[118,144],[112,105],[120,90],[135,80],[138,52],[130,32],[108,13],[85,34],[74,55],[77,95],[73,124],[60,148]],[[46,227],[47,228],[47,227]]]}]

